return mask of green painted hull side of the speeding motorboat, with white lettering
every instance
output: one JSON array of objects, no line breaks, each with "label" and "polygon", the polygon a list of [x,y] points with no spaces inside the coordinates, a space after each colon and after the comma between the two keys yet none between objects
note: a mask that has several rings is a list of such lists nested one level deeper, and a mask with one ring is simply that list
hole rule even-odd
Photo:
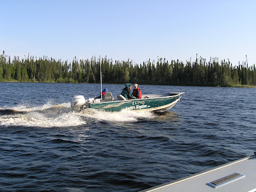
[{"label": "green painted hull side of the speeding motorboat, with white lettering", "polygon": [[145,99],[116,100],[111,102],[95,102],[88,104],[89,108],[102,111],[121,111],[122,109],[132,111],[165,111],[172,108],[182,96],[182,93],[168,93],[162,97]]}]

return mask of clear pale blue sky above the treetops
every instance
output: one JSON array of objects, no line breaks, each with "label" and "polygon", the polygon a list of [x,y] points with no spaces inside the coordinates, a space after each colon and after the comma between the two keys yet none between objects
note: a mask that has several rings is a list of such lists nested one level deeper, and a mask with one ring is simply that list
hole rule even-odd
[{"label": "clear pale blue sky above the treetops", "polygon": [[72,61],[107,56],[256,64],[256,1],[0,0],[0,51]]}]

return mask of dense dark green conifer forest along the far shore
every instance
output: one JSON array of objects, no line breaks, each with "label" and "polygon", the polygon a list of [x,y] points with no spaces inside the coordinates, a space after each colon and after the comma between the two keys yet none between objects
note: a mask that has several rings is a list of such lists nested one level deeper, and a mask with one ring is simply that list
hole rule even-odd
[{"label": "dense dark green conifer forest along the far shore", "polygon": [[206,61],[196,55],[195,61],[145,61],[141,64],[132,60],[119,61],[105,58],[77,60],[72,62],[52,58],[22,58],[1,54],[0,82],[42,82],[42,83],[102,83],[124,84],[166,84],[188,86],[256,86],[255,64],[248,62],[232,65],[229,60],[210,58]]}]

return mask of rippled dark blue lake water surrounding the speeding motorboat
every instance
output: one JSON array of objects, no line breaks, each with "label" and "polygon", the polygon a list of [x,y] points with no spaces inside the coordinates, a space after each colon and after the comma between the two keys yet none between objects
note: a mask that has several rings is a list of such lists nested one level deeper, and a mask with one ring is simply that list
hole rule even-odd
[{"label": "rippled dark blue lake water surrounding the speeding motorboat", "polygon": [[256,89],[139,86],[186,93],[164,113],[76,112],[99,84],[0,83],[1,191],[140,191],[256,151]]}]

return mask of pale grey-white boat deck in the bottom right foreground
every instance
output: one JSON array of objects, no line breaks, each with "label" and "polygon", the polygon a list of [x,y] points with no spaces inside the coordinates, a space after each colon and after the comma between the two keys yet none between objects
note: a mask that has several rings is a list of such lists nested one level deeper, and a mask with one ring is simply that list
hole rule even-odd
[{"label": "pale grey-white boat deck in the bottom right foreground", "polygon": [[[228,179],[228,175],[241,174],[241,177]],[[238,175],[238,174],[236,174]],[[216,188],[210,184],[219,184]],[[174,180],[145,191],[256,191],[256,156],[244,157],[231,163],[223,164],[205,172]]]}]

